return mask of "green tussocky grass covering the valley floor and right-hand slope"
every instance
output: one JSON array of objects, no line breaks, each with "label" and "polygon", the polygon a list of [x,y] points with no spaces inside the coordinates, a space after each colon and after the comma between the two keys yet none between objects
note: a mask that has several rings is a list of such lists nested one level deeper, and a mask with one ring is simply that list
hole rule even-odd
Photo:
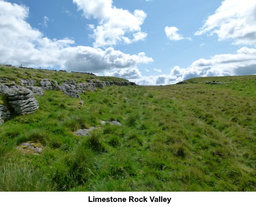
[{"label": "green tussocky grass covering the valley floor and right-hand slope", "polygon": [[[80,107],[61,91],[36,96],[35,113],[0,126],[0,191],[256,191],[256,76],[185,82],[88,91]],[[28,141],[42,153],[17,149]]]}]

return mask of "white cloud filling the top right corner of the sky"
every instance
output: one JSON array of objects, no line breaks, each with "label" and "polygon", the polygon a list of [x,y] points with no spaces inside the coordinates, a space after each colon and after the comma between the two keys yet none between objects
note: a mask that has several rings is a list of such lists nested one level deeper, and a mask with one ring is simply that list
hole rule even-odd
[{"label": "white cloud filling the top right corner of the sky", "polygon": [[256,1],[225,0],[195,33],[217,34],[219,40],[231,39],[234,44],[256,44]]}]

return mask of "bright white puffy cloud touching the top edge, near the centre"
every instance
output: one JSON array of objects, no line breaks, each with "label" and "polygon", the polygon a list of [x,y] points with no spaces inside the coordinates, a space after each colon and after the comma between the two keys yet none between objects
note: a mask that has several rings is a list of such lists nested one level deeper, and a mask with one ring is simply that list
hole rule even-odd
[{"label": "bright white puffy cloud touching the top edge, near the centre", "polygon": [[144,40],[147,36],[141,32],[141,25],[146,18],[146,13],[142,10],[130,13],[113,6],[112,0],[73,0],[73,3],[78,10],[83,11],[84,17],[99,21],[91,35],[95,39],[94,48],[105,48],[120,42],[130,44]]}]

